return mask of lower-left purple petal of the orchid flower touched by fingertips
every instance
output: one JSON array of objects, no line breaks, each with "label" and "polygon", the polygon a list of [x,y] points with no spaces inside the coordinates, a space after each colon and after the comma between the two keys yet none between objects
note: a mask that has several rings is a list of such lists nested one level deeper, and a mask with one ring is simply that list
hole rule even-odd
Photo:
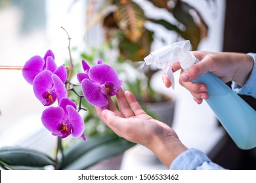
[{"label": "lower-left purple petal of the orchid flower touched by fingertips", "polygon": [[108,106],[108,97],[100,92],[100,86],[89,79],[81,83],[83,95],[87,101],[96,107],[105,108]]}]

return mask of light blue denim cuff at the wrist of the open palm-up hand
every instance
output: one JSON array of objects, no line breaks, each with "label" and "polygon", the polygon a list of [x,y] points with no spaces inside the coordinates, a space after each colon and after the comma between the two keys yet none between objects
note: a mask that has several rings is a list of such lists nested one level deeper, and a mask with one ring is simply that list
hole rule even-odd
[{"label": "light blue denim cuff at the wrist of the open palm-up hand", "polygon": [[190,148],[177,158],[169,167],[171,170],[223,170],[223,167],[213,163],[202,151]]}]

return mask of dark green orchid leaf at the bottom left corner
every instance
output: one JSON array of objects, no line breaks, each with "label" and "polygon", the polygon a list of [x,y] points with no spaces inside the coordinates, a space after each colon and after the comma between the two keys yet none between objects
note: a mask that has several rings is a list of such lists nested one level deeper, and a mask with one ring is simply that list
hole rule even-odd
[{"label": "dark green orchid leaf at the bottom left corner", "polygon": [[19,147],[0,149],[0,161],[9,166],[44,167],[54,165],[53,159],[37,150]]}]

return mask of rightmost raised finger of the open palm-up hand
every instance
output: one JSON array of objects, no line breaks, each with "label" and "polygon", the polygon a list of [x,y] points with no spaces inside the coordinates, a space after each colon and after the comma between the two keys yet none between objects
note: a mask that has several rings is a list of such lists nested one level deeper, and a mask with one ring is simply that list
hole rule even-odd
[{"label": "rightmost raised finger of the open palm-up hand", "polygon": [[137,99],[135,98],[133,93],[126,91],[125,97],[127,99],[127,102],[129,103],[129,106],[131,107],[131,110],[135,114],[135,116],[146,114],[146,112],[140,107],[140,105],[137,102]]}]

